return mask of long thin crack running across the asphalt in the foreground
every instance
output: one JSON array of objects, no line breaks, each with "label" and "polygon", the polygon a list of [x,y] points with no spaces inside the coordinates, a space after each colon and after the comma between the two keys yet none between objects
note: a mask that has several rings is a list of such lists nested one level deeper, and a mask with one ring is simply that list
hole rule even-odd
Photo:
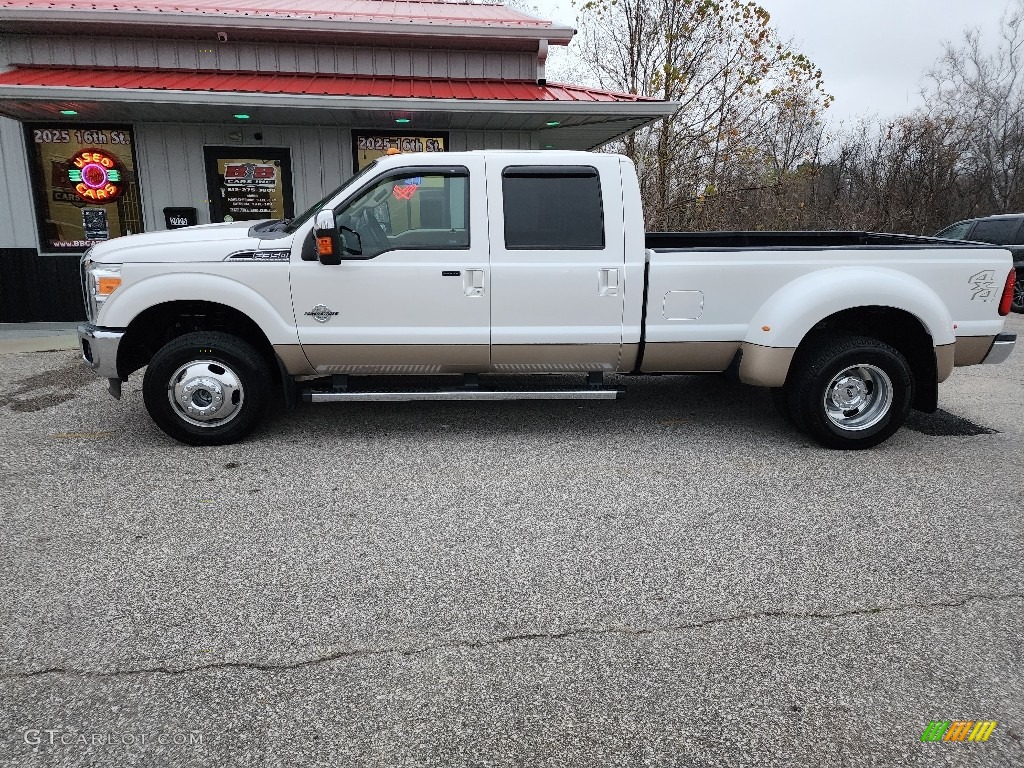
[{"label": "long thin crack running across the asphalt in the foreground", "polygon": [[202,673],[209,670],[251,670],[254,672],[279,672],[300,670],[304,667],[313,667],[321,664],[330,664],[346,658],[369,658],[373,656],[398,655],[415,656],[422,653],[430,653],[437,650],[451,650],[464,648],[475,650],[488,648],[498,645],[506,645],[516,642],[565,640],[582,637],[601,637],[606,635],[623,635],[632,637],[644,637],[660,633],[686,632],[689,630],[699,630],[706,627],[716,627],[728,624],[739,624],[743,622],[758,622],[770,618],[797,618],[797,620],[822,620],[846,618],[849,616],[872,616],[880,613],[902,613],[909,610],[933,610],[940,608],[962,608],[972,602],[1004,602],[1010,600],[1022,600],[1024,593],[1012,592],[1005,595],[968,595],[961,600],[939,601],[932,603],[910,603],[908,605],[890,605],[873,608],[851,608],[849,610],[838,611],[836,613],[801,612],[786,610],[765,610],[751,613],[737,613],[731,616],[719,616],[707,618],[700,622],[687,622],[684,624],[664,625],[659,627],[632,628],[632,627],[579,627],[565,630],[564,632],[531,632],[516,635],[505,635],[502,637],[486,640],[469,640],[455,643],[442,643],[437,645],[423,645],[419,647],[407,648],[354,648],[348,650],[333,651],[324,655],[303,658],[297,662],[213,662],[211,664],[198,665],[196,667],[144,667],[132,670],[75,670],[66,667],[46,667],[27,672],[7,672],[0,674],[0,680],[22,680],[46,675],[63,675],[78,678],[111,678],[124,677],[130,675],[189,675]]}]

